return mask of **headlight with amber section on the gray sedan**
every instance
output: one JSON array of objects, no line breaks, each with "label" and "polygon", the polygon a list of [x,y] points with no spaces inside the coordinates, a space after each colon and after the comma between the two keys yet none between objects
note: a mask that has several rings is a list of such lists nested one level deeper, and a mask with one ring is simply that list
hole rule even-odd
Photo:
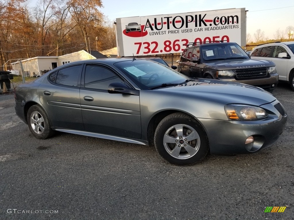
[{"label": "headlight with amber section on the gray sedan", "polygon": [[264,109],[248,105],[226,105],[225,111],[228,119],[233,121],[256,120],[268,116],[268,113]]}]

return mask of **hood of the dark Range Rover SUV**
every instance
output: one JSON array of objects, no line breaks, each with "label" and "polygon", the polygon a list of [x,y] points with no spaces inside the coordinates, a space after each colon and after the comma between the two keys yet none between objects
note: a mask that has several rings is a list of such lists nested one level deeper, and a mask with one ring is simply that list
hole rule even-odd
[{"label": "hood of the dark Range Rover SUV", "polygon": [[[246,68],[258,68],[269,67],[275,64],[269,60],[255,60],[255,59],[236,59],[236,60],[214,60],[207,61],[207,66],[212,69],[246,69]],[[213,68],[215,66],[215,68]]]}]

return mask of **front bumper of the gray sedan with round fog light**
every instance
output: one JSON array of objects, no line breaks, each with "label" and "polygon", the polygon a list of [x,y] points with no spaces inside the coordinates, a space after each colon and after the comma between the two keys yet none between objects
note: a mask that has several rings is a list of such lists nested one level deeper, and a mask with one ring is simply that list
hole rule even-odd
[{"label": "front bumper of the gray sedan with round fog light", "polygon": [[[269,113],[266,119],[252,121],[222,121],[215,119],[198,119],[209,140],[211,154],[242,154],[251,153],[246,149],[245,141],[253,136],[259,151],[278,141],[287,122],[287,114],[282,116],[274,104],[260,106]],[[248,144],[247,144],[248,145]],[[248,147],[248,146],[247,146]]]}]

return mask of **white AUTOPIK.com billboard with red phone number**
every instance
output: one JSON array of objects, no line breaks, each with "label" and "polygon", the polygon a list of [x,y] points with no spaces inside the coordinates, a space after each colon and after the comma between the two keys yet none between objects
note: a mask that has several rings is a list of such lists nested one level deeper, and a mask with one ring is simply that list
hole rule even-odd
[{"label": "white AUTOPIK.com billboard with red phone number", "polygon": [[181,53],[191,42],[245,46],[245,8],[116,18],[119,56]]}]

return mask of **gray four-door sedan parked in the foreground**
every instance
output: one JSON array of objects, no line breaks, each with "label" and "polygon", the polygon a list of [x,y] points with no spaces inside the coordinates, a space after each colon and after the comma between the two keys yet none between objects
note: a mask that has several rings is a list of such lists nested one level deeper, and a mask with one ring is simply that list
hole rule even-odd
[{"label": "gray four-door sedan parked in the foreground", "polygon": [[155,146],[170,163],[273,145],[287,115],[263,89],[190,79],[151,60],[109,58],[62,65],[15,88],[16,114],[39,139],[62,131]]}]

